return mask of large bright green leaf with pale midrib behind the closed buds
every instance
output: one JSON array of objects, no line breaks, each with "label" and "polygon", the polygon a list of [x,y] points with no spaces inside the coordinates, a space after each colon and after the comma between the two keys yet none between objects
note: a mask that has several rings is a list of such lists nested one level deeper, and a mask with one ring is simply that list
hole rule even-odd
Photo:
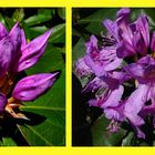
[{"label": "large bright green leaf with pale midrib behind the closed buds", "polygon": [[[32,146],[64,145],[65,143],[65,68],[62,50],[49,45],[44,56],[28,74],[61,70],[60,79],[44,95],[34,102],[24,103],[21,111],[44,116],[38,125],[19,125],[19,130]],[[33,122],[32,122],[33,123]]]}]

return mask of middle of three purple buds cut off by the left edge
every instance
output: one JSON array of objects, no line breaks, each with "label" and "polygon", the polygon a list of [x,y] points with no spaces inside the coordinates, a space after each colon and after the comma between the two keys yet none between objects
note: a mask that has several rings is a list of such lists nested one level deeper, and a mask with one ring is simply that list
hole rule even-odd
[{"label": "middle of three purple buds cut off by the left edge", "polygon": [[10,69],[12,53],[14,51],[13,43],[9,37],[0,41],[0,76],[2,78]]}]

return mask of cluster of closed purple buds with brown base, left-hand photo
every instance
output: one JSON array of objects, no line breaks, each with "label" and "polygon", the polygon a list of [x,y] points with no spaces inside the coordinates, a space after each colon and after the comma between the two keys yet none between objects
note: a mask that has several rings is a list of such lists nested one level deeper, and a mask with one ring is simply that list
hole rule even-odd
[{"label": "cluster of closed purple buds with brown base, left-hand photo", "polygon": [[[43,55],[51,33],[52,29],[27,42],[19,23],[10,32],[0,23],[0,113],[6,111],[13,117],[25,118],[16,114],[13,107],[35,100],[54,84],[59,72],[30,75],[12,87],[18,72],[31,68]],[[12,96],[7,99],[10,93]]]}]

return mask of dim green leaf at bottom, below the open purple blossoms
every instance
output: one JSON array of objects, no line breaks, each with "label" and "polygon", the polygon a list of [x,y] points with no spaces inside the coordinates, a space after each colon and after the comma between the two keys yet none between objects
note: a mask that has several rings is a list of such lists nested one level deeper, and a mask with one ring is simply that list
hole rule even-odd
[{"label": "dim green leaf at bottom, below the open purple blossoms", "polygon": [[118,146],[125,135],[124,130],[117,133],[107,134],[107,125],[110,121],[104,115],[100,116],[92,126],[92,137],[94,146]]}]

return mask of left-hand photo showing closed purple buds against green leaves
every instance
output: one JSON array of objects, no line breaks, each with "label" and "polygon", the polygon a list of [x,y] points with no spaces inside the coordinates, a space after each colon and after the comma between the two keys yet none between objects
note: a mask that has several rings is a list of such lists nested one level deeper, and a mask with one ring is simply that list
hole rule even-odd
[{"label": "left-hand photo showing closed purple buds against green leaves", "polygon": [[65,146],[65,8],[0,8],[0,145]]}]

